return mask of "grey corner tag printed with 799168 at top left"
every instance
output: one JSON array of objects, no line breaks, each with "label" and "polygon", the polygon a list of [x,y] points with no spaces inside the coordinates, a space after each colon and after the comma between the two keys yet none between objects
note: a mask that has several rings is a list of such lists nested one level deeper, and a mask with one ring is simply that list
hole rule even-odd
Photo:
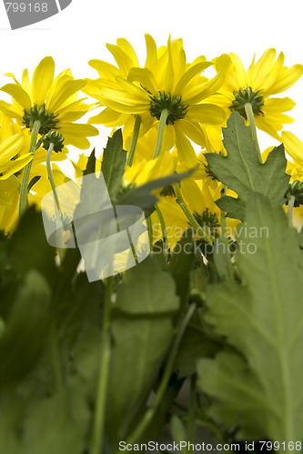
[{"label": "grey corner tag printed with 799168 at top left", "polygon": [[72,3],[72,0],[3,1],[12,30],[44,21]]}]

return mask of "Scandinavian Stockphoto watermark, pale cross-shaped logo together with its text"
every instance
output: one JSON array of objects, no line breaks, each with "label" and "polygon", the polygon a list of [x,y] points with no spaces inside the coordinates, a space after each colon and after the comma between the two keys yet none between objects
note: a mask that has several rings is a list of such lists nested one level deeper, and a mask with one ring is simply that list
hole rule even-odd
[{"label": "Scandinavian Stockphoto watermark, pale cross-shaped logo together with its text", "polygon": [[[69,181],[48,192],[41,202],[47,242],[56,248],[78,247],[89,281],[97,281],[126,271],[149,255],[150,240],[143,210],[134,205],[114,205],[111,202],[102,172],[91,173]],[[202,227],[201,227],[202,228]],[[207,225],[203,227],[207,229]],[[194,229],[188,237],[194,241],[179,242],[185,229],[153,223],[153,253],[162,253],[165,236],[174,254],[202,253],[207,259],[216,253],[233,255],[257,252],[256,239],[268,238],[268,227],[240,224],[237,230],[226,227],[214,242],[201,242]],[[203,231],[203,229],[202,229]],[[201,232],[202,232],[201,231]],[[224,241],[226,240],[226,241]]]}]

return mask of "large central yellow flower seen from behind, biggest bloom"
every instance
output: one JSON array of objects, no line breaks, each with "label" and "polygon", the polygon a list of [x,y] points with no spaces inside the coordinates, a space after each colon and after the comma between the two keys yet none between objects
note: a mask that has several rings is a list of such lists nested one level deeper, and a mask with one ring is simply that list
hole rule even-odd
[{"label": "large central yellow flower seen from behind, biggest bloom", "polygon": [[200,123],[223,125],[224,111],[207,103],[224,81],[222,72],[208,80],[202,72],[211,65],[204,56],[192,63],[186,61],[181,39],[157,48],[150,35],[146,35],[146,64],[139,67],[136,53],[126,40],[117,45],[107,44],[116,64],[93,60],[90,64],[100,75],[88,81],[84,91],[106,106],[90,123],[103,123],[116,127],[125,125],[124,135],[129,136],[134,127],[134,115],[141,116],[140,135],[153,125],[166,124],[170,142],[176,144],[180,162],[194,167],[197,156],[190,141],[206,146],[205,130]]}]

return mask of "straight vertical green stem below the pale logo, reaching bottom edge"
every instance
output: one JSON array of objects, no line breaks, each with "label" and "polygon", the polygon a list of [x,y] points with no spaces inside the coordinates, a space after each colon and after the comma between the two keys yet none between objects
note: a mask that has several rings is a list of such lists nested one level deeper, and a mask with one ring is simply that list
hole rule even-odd
[{"label": "straight vertical green stem below the pale logo, reaching bottom edge", "polygon": [[106,421],[106,396],[107,384],[109,378],[109,362],[111,353],[110,341],[110,314],[111,299],[113,290],[113,276],[106,280],[106,301],[104,307],[104,320],[101,333],[100,347],[100,367],[96,391],[96,412],[93,426],[91,454],[100,454],[102,452],[104,429]]}]

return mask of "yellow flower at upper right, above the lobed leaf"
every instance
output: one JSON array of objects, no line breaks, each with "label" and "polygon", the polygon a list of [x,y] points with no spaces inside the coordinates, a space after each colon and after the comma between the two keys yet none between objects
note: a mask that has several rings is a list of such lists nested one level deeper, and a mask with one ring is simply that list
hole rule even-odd
[{"label": "yellow flower at upper right, above the lobed leaf", "polygon": [[284,54],[276,57],[276,49],[268,49],[258,62],[254,57],[247,71],[239,57],[232,53],[215,58],[214,64],[218,73],[222,67],[227,70],[220,94],[215,95],[212,101],[225,108],[227,114],[236,110],[245,119],[245,104],[250,103],[258,128],[279,139],[277,132],[283,124],[293,122],[284,113],[291,110],[295,103],[288,97],[272,95],[284,92],[298,81],[303,74],[302,64],[284,66]]}]

